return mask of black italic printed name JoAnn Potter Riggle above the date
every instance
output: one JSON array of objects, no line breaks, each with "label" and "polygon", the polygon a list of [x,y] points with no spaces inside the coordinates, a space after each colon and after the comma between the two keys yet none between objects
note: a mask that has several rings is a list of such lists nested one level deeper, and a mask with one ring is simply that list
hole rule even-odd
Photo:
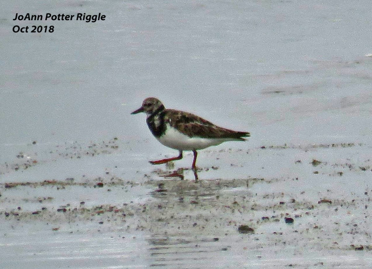
[{"label": "black italic printed name JoAnn Potter Riggle above the date", "polygon": [[[65,14],[58,14],[54,15],[51,13],[45,14],[45,20],[83,20],[85,22],[96,22],[97,20],[105,20],[106,15],[90,15],[85,13],[77,13],[75,15],[65,15]],[[16,13],[16,17],[13,20],[43,20],[43,15],[30,15],[30,13],[26,13],[25,15],[18,15]]]}]

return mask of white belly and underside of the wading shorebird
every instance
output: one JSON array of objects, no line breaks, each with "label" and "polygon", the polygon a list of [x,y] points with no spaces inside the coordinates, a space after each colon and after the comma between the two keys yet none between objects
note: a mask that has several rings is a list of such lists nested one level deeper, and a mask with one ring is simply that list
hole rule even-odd
[{"label": "white belly and underside of the wading shorebird", "polygon": [[229,139],[214,139],[214,138],[202,138],[202,137],[189,137],[179,132],[177,129],[171,127],[167,123],[167,129],[164,135],[157,138],[160,143],[172,149],[178,150],[197,150],[205,149],[209,146],[219,145]]}]

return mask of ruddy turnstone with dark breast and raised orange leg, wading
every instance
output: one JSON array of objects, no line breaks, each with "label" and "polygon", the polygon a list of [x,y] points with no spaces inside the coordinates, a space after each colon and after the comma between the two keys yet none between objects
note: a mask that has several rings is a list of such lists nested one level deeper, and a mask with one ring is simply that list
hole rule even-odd
[{"label": "ruddy turnstone with dark breast and raised orange leg, wading", "polygon": [[162,164],[182,159],[183,150],[192,150],[194,160],[192,169],[196,169],[196,150],[205,149],[209,146],[219,145],[226,141],[244,141],[249,137],[249,132],[238,132],[219,127],[194,114],[166,109],[155,97],[148,97],[142,102],[142,106],[131,114],[145,112],[147,125],[156,139],[172,149],[179,150],[177,157],[150,161],[152,164]]}]

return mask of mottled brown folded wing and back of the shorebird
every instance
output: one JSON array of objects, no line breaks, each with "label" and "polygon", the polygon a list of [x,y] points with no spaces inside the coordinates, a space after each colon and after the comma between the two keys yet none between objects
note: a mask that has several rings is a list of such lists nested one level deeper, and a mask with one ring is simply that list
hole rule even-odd
[{"label": "mottled brown folded wing and back of the shorebird", "polygon": [[190,137],[237,139],[244,141],[243,137],[250,136],[248,132],[237,132],[219,127],[202,117],[184,111],[167,109],[165,122],[181,133]]}]

